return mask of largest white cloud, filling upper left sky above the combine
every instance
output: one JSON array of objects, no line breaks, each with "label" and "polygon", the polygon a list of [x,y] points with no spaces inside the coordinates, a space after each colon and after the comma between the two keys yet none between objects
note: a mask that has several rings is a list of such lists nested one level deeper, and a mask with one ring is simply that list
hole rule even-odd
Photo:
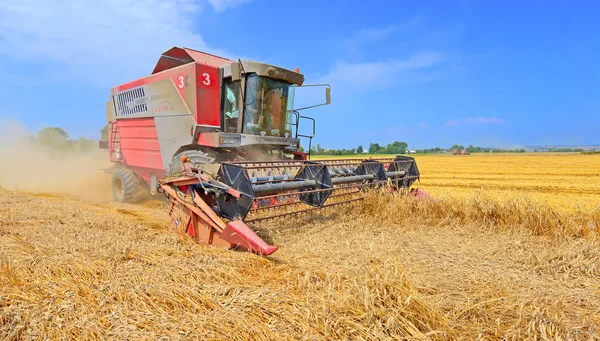
[{"label": "largest white cloud, filling upper left sky above the combine", "polygon": [[[210,0],[215,11],[241,1]],[[0,54],[53,64],[54,76],[110,86],[149,74],[160,54],[185,46],[224,54],[194,31],[199,0],[19,0],[0,3]],[[63,75],[64,77],[64,75]]]}]

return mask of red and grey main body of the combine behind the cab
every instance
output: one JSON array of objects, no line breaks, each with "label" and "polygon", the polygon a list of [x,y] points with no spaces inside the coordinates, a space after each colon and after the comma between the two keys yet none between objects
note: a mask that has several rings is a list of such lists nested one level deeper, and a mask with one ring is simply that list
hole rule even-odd
[{"label": "red and grey main body of the combine behind the cab", "polygon": [[152,75],[113,87],[116,129],[111,141],[118,144],[111,150],[115,155],[121,151],[113,161],[124,162],[148,181],[150,172],[164,173],[179,146],[192,142],[188,132],[194,123],[220,127],[218,65],[228,62],[175,48],[161,57]]}]

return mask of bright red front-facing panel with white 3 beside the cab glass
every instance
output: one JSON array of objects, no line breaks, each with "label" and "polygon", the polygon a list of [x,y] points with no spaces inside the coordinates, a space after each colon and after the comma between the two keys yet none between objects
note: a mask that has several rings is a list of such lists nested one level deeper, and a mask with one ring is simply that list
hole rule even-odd
[{"label": "bright red front-facing panel with white 3 beside the cab glass", "polygon": [[196,123],[220,126],[219,69],[196,64]]}]

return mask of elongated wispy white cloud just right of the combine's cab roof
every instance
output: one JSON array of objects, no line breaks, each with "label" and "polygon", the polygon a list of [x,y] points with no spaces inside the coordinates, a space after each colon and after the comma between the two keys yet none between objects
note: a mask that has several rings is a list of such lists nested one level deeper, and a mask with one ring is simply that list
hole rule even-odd
[{"label": "elongated wispy white cloud just right of the combine's cab roof", "polygon": [[[416,53],[407,59],[381,62],[347,63],[342,61],[322,80],[346,87],[381,86],[398,80],[400,72],[430,68],[443,61],[444,56],[437,52]],[[406,78],[403,80],[406,80]]]}]

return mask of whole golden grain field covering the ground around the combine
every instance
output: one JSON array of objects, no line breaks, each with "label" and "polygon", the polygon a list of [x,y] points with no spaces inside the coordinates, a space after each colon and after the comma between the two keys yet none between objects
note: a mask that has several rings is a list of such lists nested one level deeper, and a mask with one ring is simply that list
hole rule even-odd
[{"label": "whole golden grain field covering the ground around the combine", "polygon": [[0,189],[0,339],[600,338],[600,211],[560,191],[598,203],[598,156],[417,161],[440,201],[272,221],[268,258],[170,233],[158,201]]}]

